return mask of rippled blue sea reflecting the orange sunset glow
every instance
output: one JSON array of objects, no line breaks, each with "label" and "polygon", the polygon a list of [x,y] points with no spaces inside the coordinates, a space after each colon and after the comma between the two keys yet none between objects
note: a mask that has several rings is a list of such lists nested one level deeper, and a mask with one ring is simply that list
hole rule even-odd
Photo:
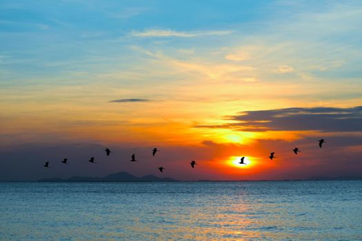
[{"label": "rippled blue sea reflecting the orange sunset glow", "polygon": [[362,240],[362,181],[1,182],[1,240]]}]

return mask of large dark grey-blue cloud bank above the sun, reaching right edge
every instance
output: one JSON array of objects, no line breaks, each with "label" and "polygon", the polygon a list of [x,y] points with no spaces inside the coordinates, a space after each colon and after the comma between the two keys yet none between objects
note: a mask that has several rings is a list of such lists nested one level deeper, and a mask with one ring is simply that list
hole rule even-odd
[{"label": "large dark grey-blue cloud bank above the sun, reaching right edge", "polygon": [[362,132],[362,106],[350,108],[313,107],[240,112],[229,119],[236,123],[196,127],[233,128],[243,131]]}]

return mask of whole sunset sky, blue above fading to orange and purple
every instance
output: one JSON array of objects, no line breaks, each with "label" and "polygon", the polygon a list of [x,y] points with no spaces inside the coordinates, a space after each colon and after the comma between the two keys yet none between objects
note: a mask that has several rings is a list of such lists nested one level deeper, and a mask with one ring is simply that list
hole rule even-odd
[{"label": "whole sunset sky, blue above fading to orange and purple", "polygon": [[0,180],[362,176],[361,24],[361,1],[0,0]]}]

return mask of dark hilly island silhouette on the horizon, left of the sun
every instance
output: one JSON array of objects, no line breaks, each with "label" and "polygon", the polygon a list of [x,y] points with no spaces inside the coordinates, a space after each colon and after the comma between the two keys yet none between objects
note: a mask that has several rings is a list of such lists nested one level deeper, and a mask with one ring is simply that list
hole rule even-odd
[{"label": "dark hilly island silhouette on the horizon, left of the sun", "polygon": [[71,178],[43,178],[38,182],[178,182],[172,178],[158,178],[157,176],[147,175],[142,177],[133,176],[128,172],[121,171],[117,174],[110,174],[102,178],[73,176]]}]

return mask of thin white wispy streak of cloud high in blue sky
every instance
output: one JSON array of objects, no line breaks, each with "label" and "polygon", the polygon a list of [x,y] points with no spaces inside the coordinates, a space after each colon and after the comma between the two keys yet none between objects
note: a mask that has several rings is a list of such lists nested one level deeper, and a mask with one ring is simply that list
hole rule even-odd
[{"label": "thin white wispy streak of cloud high in blue sky", "polygon": [[219,30],[219,31],[194,31],[194,32],[177,32],[174,30],[161,30],[161,29],[151,29],[145,30],[143,32],[132,31],[131,36],[148,38],[148,37],[170,37],[176,36],[181,38],[192,38],[198,36],[219,36],[225,34],[231,34],[232,31],[229,30]]}]

